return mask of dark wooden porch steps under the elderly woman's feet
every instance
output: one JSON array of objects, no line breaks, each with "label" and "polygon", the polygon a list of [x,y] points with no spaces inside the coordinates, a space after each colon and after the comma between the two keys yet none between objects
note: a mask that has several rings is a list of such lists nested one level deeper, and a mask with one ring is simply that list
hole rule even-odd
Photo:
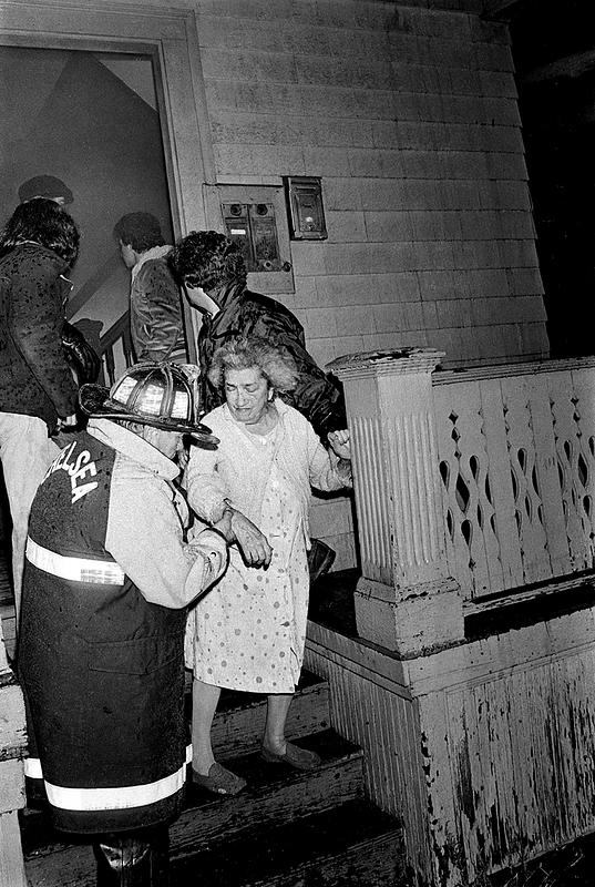
[{"label": "dark wooden porch steps under the elderly woman's feet", "polygon": [[[188,789],[170,829],[172,887],[407,887],[399,825],[365,798],[362,753],[329,727],[327,683],[305,674],[288,720],[288,736],[320,754],[316,771],[260,758],[265,710],[264,697],[222,694],[215,754],[248,787],[229,798]],[[94,886],[89,845],[64,842],[39,810],[21,826],[30,887]]]}]

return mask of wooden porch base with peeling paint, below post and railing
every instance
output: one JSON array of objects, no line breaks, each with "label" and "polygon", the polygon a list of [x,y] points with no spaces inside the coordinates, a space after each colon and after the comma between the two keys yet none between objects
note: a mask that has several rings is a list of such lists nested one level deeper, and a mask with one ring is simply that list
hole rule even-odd
[{"label": "wooden porch base with peeling paint, below post and railing", "polygon": [[461,887],[595,830],[594,610],[417,660],[309,634],[411,885]]}]

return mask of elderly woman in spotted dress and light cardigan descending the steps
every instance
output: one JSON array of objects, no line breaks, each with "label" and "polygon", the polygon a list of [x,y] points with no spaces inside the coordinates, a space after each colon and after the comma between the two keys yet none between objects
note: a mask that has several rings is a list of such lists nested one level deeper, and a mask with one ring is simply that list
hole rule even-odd
[{"label": "elderly woman in spotted dress and light cardigan descending the steps", "polygon": [[310,485],[350,486],[351,462],[347,431],[330,432],[327,451],[308,420],[277,397],[297,378],[285,349],[256,337],[233,339],[215,353],[209,377],[225,395],[205,416],[220,445],[191,453],[188,501],[209,523],[227,511],[237,550],[189,616],[193,771],[205,788],[235,794],[244,779],[215,762],[211,746],[220,687],[268,695],[265,761],[298,769],[319,763],[286,741],[285,722],[304,657]]}]

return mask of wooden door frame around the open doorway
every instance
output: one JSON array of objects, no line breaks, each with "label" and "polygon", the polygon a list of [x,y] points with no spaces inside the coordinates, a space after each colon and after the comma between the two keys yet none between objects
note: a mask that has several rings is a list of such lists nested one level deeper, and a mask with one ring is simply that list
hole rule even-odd
[{"label": "wooden door frame around the open doorway", "polygon": [[[196,16],[127,2],[83,6],[71,0],[0,0],[0,47],[70,49],[150,55],[162,129],[175,237],[212,227],[205,184],[215,160],[201,67]],[[158,2],[158,0],[156,0]],[[191,359],[196,359],[196,312],[184,303]]]}]

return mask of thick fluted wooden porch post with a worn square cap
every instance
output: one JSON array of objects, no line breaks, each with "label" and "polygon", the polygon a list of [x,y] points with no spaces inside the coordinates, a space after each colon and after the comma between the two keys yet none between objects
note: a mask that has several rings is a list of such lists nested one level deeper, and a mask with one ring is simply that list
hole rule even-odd
[{"label": "thick fluted wooden porch post with a worn square cap", "polygon": [[463,638],[448,575],[435,441],[431,348],[371,351],[327,367],[342,381],[353,449],[362,575],[360,638],[403,655]]}]

